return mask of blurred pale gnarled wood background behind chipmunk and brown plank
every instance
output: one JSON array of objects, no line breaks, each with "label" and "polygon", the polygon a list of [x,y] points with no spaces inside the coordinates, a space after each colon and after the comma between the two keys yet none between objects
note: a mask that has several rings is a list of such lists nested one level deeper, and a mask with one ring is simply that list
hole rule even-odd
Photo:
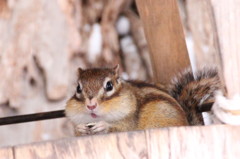
[{"label": "blurred pale gnarled wood background behind chipmunk and brown plank", "polygon": [[[178,0],[193,69],[215,63],[207,1]],[[152,80],[134,0],[0,0],[0,117],[64,109],[78,67]],[[0,126],[0,146],[73,136],[64,118]]]}]

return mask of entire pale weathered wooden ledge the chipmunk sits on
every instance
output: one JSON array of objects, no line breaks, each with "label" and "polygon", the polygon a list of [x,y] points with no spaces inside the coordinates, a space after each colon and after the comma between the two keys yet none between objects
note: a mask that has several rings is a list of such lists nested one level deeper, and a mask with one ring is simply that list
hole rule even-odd
[{"label": "entire pale weathered wooden ledge the chipmunk sits on", "polygon": [[[14,159],[169,158],[226,159],[240,156],[240,127],[179,127],[95,135],[15,146]],[[9,156],[9,157],[8,157]],[[0,158],[13,158],[11,148]]]}]

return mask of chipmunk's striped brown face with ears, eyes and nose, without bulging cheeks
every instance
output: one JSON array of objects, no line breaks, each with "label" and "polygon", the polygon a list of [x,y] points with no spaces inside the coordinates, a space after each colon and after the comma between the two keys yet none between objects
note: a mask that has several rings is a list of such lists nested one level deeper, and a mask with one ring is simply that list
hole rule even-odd
[{"label": "chipmunk's striped brown face with ears, eyes and nose, without bulging cheeks", "polygon": [[121,86],[119,65],[114,68],[78,69],[75,97],[94,110],[101,100],[114,96]]}]

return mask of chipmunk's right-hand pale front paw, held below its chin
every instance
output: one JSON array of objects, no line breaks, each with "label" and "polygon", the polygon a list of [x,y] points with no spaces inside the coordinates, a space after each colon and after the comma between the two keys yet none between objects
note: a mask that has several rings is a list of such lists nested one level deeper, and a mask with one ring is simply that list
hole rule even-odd
[{"label": "chipmunk's right-hand pale front paw, held below its chin", "polygon": [[90,131],[92,134],[107,133],[109,130],[109,127],[110,127],[109,123],[105,121],[99,121],[90,128]]}]

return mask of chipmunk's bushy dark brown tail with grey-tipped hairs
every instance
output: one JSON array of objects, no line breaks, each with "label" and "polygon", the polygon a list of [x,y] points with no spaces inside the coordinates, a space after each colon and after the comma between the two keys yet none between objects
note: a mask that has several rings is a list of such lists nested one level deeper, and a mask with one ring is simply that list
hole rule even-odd
[{"label": "chipmunk's bushy dark brown tail with grey-tipped hairs", "polygon": [[195,76],[191,71],[179,74],[173,79],[169,93],[186,112],[190,125],[203,125],[202,113],[198,110],[205,102],[214,101],[215,91],[221,89],[217,70],[205,68]]}]

